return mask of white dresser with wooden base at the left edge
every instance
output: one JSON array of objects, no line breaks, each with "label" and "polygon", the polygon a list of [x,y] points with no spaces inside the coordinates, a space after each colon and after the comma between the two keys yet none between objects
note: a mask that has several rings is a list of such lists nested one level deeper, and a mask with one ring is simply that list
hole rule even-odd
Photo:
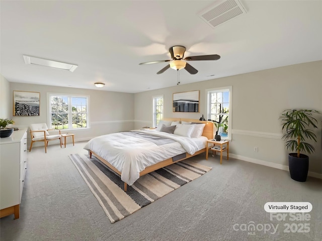
[{"label": "white dresser with wooden base at the left edge", "polygon": [[0,217],[14,214],[19,218],[26,169],[27,129],[0,138]]}]

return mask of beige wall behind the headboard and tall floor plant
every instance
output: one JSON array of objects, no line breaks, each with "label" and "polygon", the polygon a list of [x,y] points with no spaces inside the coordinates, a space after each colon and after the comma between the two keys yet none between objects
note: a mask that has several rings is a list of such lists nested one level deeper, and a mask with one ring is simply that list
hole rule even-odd
[{"label": "beige wall behind the headboard and tall floor plant", "polygon": [[[181,81],[184,83],[184,79]],[[152,125],[152,96],[164,95],[164,116],[199,119],[206,116],[206,89],[232,86],[232,140],[229,151],[241,160],[287,169],[287,153],[281,140],[279,116],[286,108],[310,108],[322,112],[322,61],[182,84],[135,94],[135,128]],[[200,113],[172,112],[172,95],[200,90]],[[310,156],[310,175],[322,173],[321,120],[318,142]],[[258,152],[254,152],[258,147]]]}]

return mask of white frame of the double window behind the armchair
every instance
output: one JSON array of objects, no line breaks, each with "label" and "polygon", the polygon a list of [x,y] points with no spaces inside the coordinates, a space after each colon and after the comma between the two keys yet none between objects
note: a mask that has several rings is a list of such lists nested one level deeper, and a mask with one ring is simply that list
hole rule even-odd
[{"label": "white frame of the double window behind the armchair", "polygon": [[84,128],[70,128],[70,125],[72,126],[72,122],[68,123],[67,129],[59,129],[60,131],[75,131],[75,130],[86,130],[90,129],[90,111],[89,111],[89,105],[90,105],[90,96],[84,95],[84,94],[68,94],[68,93],[47,93],[47,125],[48,128],[51,129],[52,126],[52,119],[51,119],[51,97],[52,96],[62,96],[68,98],[68,119],[72,119],[72,104],[71,104],[71,98],[72,97],[78,97],[78,98],[86,98],[86,116],[87,116],[87,122],[86,126]]}]

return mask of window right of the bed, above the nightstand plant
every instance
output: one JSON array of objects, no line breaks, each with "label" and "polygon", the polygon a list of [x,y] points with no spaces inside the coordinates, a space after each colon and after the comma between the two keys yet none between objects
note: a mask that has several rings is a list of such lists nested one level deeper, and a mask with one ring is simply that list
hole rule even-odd
[{"label": "window right of the bed, above the nightstand plant", "polygon": [[212,119],[218,135],[231,139],[231,90],[232,87],[207,89],[207,118]]}]

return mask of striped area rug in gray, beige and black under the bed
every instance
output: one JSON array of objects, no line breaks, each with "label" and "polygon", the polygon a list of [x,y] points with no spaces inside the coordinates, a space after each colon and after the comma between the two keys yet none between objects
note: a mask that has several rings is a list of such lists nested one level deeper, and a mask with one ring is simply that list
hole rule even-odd
[{"label": "striped area rug in gray, beige and black under the bed", "polygon": [[124,192],[120,176],[96,157],[72,154],[69,158],[112,223],[211,170],[211,167],[184,160],[140,177]]}]

